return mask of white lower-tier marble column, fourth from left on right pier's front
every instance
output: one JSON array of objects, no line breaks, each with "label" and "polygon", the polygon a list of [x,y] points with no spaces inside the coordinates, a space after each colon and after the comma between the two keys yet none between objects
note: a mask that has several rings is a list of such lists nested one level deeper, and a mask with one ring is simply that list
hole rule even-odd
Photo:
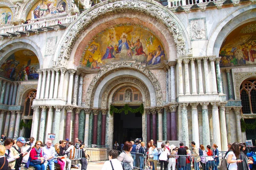
[{"label": "white lower-tier marble column, fourth from left on right pier's front", "polygon": [[211,102],[212,105],[212,125],[213,125],[213,141],[212,143],[217,144],[219,150],[221,150],[221,130],[218,113],[218,103]]}]

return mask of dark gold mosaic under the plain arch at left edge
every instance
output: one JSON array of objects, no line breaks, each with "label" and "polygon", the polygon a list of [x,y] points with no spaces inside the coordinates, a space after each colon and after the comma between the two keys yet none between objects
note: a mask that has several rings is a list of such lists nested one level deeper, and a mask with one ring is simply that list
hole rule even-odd
[{"label": "dark gold mosaic under the plain arch at left edge", "polygon": [[0,76],[14,81],[38,79],[39,61],[30,50],[20,50],[10,55],[0,67]]}]

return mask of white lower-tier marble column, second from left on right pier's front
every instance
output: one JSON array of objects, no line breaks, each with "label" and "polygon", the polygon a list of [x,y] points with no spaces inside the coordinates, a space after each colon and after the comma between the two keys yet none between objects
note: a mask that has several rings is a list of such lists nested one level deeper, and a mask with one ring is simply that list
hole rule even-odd
[{"label": "white lower-tier marble column, second from left on right pier's front", "polygon": [[198,127],[198,103],[190,103],[192,108],[192,140],[195,144],[200,145],[199,142],[199,127]]}]

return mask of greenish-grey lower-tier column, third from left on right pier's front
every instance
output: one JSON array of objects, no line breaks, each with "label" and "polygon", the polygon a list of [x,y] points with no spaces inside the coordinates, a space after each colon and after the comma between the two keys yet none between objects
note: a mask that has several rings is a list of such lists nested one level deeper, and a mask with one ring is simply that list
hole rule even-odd
[{"label": "greenish-grey lower-tier column, third from left on right pier's front", "polygon": [[209,127],[209,115],[208,115],[208,105],[209,103],[200,103],[202,106],[202,122],[203,122],[203,144],[207,146],[210,144],[210,127]]}]

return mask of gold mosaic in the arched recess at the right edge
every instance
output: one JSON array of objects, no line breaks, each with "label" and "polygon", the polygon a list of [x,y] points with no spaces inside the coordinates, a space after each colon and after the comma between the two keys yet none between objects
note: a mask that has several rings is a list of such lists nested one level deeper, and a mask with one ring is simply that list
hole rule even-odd
[{"label": "gold mosaic in the arched recess at the right edge", "polygon": [[256,63],[256,21],[232,31],[221,45],[222,67]]}]

